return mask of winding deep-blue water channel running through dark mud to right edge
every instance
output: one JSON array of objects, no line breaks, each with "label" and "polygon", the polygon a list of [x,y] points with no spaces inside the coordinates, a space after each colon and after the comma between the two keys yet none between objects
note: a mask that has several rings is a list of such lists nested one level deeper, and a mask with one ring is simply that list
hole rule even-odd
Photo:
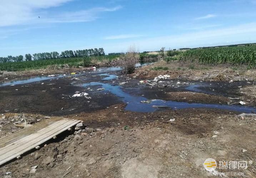
[{"label": "winding deep-blue water channel running through dark mud to right edge", "polygon": [[[135,111],[135,112],[153,112],[158,110],[159,108],[171,108],[171,109],[187,109],[187,108],[209,108],[209,109],[222,109],[222,110],[230,110],[237,112],[250,113],[252,111],[256,112],[256,108],[246,107],[246,106],[238,106],[238,105],[219,105],[219,104],[202,104],[202,103],[186,103],[186,102],[177,102],[177,101],[164,101],[164,100],[152,100],[151,103],[141,103],[140,101],[146,101],[147,98],[142,96],[132,96],[130,94],[125,93],[122,90],[121,86],[114,86],[106,83],[100,82],[91,82],[83,84],[83,87],[91,86],[91,85],[100,85],[105,88],[105,91],[110,91],[111,93],[121,97],[121,100],[124,103],[127,103],[126,110]],[[159,108],[155,108],[152,106],[161,106]],[[164,107],[163,107],[164,106]]]}]

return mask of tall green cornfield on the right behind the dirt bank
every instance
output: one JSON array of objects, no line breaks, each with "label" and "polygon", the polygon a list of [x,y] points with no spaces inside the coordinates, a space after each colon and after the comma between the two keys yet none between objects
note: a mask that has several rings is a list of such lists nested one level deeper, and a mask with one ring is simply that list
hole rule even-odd
[{"label": "tall green cornfield on the right behind the dirt bank", "polygon": [[185,51],[180,59],[204,64],[246,64],[250,68],[255,68],[256,46],[192,49]]}]

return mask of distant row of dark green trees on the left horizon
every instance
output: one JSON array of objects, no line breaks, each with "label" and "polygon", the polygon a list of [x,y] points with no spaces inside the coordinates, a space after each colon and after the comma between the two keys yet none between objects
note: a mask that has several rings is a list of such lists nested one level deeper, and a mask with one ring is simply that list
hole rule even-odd
[{"label": "distant row of dark green trees on the left horizon", "polygon": [[35,53],[33,55],[26,54],[25,58],[20,56],[7,56],[0,57],[0,62],[17,62],[17,61],[32,61],[32,60],[44,60],[44,59],[58,59],[58,58],[75,58],[75,57],[89,57],[89,56],[105,56],[103,48],[94,49],[83,49],[83,50],[66,50],[62,51],[60,54],[56,51],[45,52],[45,53]]}]

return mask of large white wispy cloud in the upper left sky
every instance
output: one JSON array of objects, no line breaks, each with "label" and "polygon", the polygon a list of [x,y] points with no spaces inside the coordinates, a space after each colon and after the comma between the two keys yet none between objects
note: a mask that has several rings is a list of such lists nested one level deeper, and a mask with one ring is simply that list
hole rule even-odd
[{"label": "large white wispy cloud in the upper left sky", "polygon": [[[97,19],[100,12],[111,12],[121,8],[121,6],[97,7],[51,15],[44,11],[44,9],[60,6],[69,1],[73,0],[1,0],[0,27],[51,22],[87,22]],[[38,19],[40,14],[42,16]]]}]

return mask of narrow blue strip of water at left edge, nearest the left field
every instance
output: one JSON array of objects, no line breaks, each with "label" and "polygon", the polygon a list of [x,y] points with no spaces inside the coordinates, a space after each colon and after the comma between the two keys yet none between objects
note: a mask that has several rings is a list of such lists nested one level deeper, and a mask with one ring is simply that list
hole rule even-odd
[{"label": "narrow blue strip of water at left edge, nearest the left field", "polygon": [[49,79],[55,79],[55,78],[61,78],[61,77],[65,77],[65,75],[56,75],[55,77],[40,76],[40,77],[33,77],[33,78],[29,78],[29,79],[23,79],[23,80],[13,80],[11,82],[0,83],[0,87],[40,82],[43,80],[49,80]]}]

